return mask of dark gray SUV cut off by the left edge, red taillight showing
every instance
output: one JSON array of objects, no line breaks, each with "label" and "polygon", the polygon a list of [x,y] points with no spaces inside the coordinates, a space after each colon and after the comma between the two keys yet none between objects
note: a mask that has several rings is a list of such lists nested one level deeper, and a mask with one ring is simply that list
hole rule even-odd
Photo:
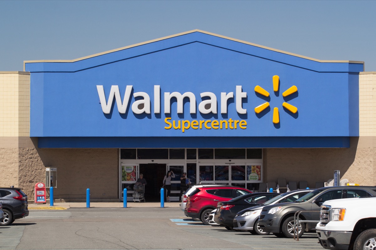
[{"label": "dark gray SUV cut off by the left edge, red taillight showing", "polygon": [[4,217],[0,226],[8,226],[14,220],[29,215],[27,195],[17,187],[0,187],[0,202],[3,204]]}]

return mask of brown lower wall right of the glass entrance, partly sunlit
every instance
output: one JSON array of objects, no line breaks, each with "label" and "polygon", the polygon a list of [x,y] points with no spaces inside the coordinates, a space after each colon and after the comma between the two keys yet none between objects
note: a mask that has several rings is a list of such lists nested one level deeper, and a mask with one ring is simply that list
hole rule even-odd
[{"label": "brown lower wall right of the glass entrance, partly sunlit", "polygon": [[264,149],[265,181],[286,178],[287,181],[332,179],[340,170],[341,179],[349,183],[376,186],[375,147],[361,147],[361,139],[350,139],[350,148],[268,148]]}]

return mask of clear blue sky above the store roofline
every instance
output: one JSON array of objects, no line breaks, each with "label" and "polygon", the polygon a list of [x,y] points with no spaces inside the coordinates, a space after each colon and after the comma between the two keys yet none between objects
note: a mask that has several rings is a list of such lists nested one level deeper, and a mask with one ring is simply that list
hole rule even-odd
[{"label": "clear blue sky above the store roofline", "polygon": [[376,71],[376,1],[0,0],[0,71],[200,29]]}]

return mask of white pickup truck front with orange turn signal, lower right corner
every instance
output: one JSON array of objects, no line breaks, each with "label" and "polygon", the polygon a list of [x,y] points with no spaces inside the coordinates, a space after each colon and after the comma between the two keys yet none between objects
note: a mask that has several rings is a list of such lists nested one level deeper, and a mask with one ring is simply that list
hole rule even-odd
[{"label": "white pickup truck front with orange turn signal, lower right corner", "polygon": [[316,232],[325,249],[376,250],[376,197],[324,202]]}]

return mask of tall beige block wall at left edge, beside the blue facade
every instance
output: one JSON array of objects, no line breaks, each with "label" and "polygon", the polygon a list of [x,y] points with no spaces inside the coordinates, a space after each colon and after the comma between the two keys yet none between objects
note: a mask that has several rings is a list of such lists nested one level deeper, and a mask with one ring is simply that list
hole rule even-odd
[{"label": "tall beige block wall at left edge, beside the blue facade", "polygon": [[29,117],[30,73],[0,72],[0,186],[23,185],[19,180],[19,142],[29,137]]}]

